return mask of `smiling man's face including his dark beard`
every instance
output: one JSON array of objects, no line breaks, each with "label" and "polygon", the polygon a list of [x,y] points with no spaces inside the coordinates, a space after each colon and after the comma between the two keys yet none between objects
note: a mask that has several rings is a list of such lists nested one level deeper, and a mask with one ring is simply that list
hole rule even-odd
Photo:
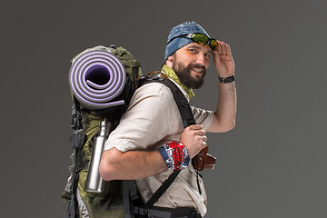
[{"label": "smiling man's face including his dark beard", "polygon": [[209,67],[212,50],[197,43],[185,45],[172,55],[172,68],[188,88],[200,88]]}]

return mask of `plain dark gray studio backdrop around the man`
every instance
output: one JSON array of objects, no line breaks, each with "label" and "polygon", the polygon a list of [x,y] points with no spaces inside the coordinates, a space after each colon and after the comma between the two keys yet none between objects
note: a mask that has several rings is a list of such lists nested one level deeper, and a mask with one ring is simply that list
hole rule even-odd
[{"label": "plain dark gray studio backdrop around the man", "polygon": [[[229,43],[237,125],[209,134],[206,217],[327,217],[326,1],[2,1],[1,217],[63,217],[70,60],[123,45],[144,73],[163,64],[173,25],[194,20]],[[214,109],[213,67],[192,103]]]}]

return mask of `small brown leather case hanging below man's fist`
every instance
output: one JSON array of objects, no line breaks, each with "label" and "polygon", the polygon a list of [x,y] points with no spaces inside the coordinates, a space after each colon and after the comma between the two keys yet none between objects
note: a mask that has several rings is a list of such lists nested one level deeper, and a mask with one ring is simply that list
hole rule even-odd
[{"label": "small brown leather case hanging below man's fist", "polygon": [[213,169],[215,165],[216,158],[208,154],[209,147],[206,146],[203,150],[193,157],[192,164],[193,168],[198,171],[203,171],[203,169]]}]

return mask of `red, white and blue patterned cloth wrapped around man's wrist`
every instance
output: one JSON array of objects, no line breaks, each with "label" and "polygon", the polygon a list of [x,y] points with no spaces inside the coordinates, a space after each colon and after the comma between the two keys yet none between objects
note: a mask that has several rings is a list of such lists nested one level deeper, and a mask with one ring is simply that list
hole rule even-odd
[{"label": "red, white and blue patterned cloth wrapped around man's wrist", "polygon": [[158,151],[164,163],[167,164],[168,170],[182,170],[190,163],[190,156],[183,143],[173,141],[170,144],[163,144]]}]

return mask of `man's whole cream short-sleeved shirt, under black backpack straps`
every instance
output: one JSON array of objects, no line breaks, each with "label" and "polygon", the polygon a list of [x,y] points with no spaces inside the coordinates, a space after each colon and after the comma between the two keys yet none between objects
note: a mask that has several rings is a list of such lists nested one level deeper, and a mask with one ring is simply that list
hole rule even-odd
[{"label": "man's whole cream short-sleeved shirt, under black backpack straps", "polygon": [[[181,90],[188,99],[188,95],[183,89]],[[213,121],[213,112],[191,108],[196,123],[203,125],[203,129],[208,128]],[[171,90],[164,84],[144,84],[136,90],[120,124],[109,135],[104,150],[115,147],[123,153],[131,150],[153,151],[163,144],[179,141],[182,132],[182,117]],[[144,203],[150,199],[170,173],[172,171],[167,170],[136,180]],[[190,163],[188,168],[179,173],[172,185],[154,205],[171,208],[193,207],[204,215],[207,199],[201,177],[199,180],[202,194],[199,193],[196,173]]]}]

